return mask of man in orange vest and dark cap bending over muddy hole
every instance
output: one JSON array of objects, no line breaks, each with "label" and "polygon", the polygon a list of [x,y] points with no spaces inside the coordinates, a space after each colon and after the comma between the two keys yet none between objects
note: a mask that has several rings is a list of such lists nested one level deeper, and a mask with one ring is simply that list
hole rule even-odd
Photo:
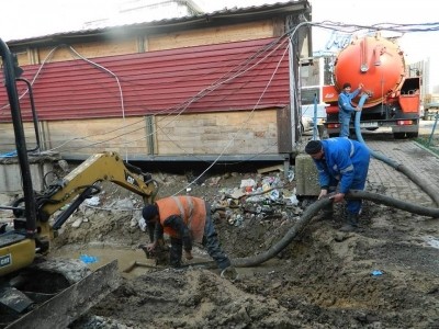
[{"label": "man in orange vest and dark cap bending over muddy hole", "polygon": [[219,240],[211,217],[211,206],[204,200],[193,196],[169,196],[146,205],[142,216],[149,229],[154,229],[154,241],[146,246],[153,252],[164,232],[170,236],[170,263],[181,266],[182,251],[192,259],[192,239],[206,247],[209,254],[221,269],[221,276],[235,280],[237,273],[230,260],[219,247]]}]

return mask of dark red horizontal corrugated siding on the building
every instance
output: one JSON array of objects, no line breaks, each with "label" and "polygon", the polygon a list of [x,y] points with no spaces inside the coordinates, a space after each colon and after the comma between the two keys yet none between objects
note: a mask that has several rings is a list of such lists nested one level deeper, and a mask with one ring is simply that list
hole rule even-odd
[{"label": "dark red horizontal corrugated siding on the building", "polygon": [[[289,105],[288,41],[264,38],[23,67],[38,118],[78,120]],[[19,83],[21,92],[24,83]],[[31,120],[29,97],[22,99]],[[4,89],[0,122],[10,121]]]}]

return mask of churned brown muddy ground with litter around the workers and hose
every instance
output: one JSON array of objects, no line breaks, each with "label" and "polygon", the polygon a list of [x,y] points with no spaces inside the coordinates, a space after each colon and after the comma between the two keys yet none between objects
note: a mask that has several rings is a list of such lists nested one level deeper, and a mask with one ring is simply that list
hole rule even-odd
[{"label": "churned brown muddy ground with litter around the workers and hose", "polygon": [[[160,197],[188,193],[226,207],[215,225],[233,259],[268,250],[313,201],[295,204],[294,179],[275,170],[206,175],[189,188],[196,173],[155,178]],[[277,192],[232,198],[250,179]],[[380,185],[368,190],[385,193]],[[105,184],[99,201],[65,225],[55,250],[94,243],[138,251],[148,241],[137,225],[140,206],[137,196]],[[364,202],[360,229],[340,232],[344,213],[337,205],[335,218],[312,220],[271,260],[237,269],[235,282],[199,266],[158,265],[136,275],[121,269],[121,285],[70,328],[439,328],[438,220]],[[78,219],[86,222],[74,227]],[[210,261],[202,248],[194,256],[192,262]]]}]

